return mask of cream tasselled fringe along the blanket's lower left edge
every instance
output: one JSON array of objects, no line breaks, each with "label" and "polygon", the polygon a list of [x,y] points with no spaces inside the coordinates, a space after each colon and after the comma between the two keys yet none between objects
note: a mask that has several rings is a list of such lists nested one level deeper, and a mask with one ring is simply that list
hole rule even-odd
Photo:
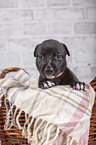
[{"label": "cream tasselled fringe along the blanket's lower left edge", "polygon": [[[0,93],[0,99],[5,96],[6,106],[6,122],[4,125],[5,130],[11,129],[13,125],[22,130],[22,135],[28,139],[30,145],[62,145],[57,143],[58,136],[62,132],[56,125],[50,124],[47,121],[42,120],[40,117],[34,118],[25,113],[25,122],[21,126],[19,118],[24,112],[7,100],[6,93],[3,91]],[[15,108],[15,110],[14,110]],[[32,128],[33,125],[33,128]],[[64,140],[64,139],[63,139]],[[72,137],[67,138],[66,145],[79,145]]]}]

